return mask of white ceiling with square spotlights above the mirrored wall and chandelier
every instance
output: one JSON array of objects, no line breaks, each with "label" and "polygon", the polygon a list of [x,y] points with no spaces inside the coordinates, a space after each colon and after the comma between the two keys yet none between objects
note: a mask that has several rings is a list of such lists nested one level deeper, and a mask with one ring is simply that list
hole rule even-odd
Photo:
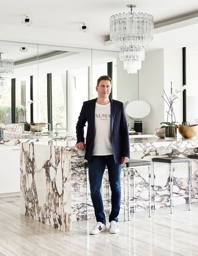
[{"label": "white ceiling with square spotlights above the mirrored wall and chandelier", "polygon": [[[197,0],[1,0],[1,39],[115,50],[108,42],[109,17],[128,12],[128,4],[137,5],[133,9],[135,12],[154,16],[154,40],[150,50],[198,44],[195,33],[198,24]],[[27,14],[33,19],[32,27],[21,25],[21,17]],[[80,22],[87,22],[89,33],[79,32]]]}]

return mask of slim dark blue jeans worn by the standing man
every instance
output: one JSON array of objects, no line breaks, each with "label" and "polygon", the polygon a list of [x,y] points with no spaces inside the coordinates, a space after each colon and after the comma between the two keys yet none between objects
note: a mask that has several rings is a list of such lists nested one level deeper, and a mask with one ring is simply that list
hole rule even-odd
[{"label": "slim dark blue jeans worn by the standing man", "polygon": [[120,211],[121,201],[121,163],[115,163],[114,156],[92,156],[89,164],[89,183],[91,191],[91,200],[95,210],[96,221],[106,223],[102,196],[100,193],[102,176],[105,170],[105,165],[108,168],[109,184],[111,187],[111,213],[109,222],[115,220],[118,222],[118,214]]}]

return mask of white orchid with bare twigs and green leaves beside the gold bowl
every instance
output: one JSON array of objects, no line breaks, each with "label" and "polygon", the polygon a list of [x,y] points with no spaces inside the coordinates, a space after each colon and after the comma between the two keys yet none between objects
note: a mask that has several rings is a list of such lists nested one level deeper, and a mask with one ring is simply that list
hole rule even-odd
[{"label": "white orchid with bare twigs and green leaves beside the gold bowl", "polygon": [[[173,112],[173,103],[175,103],[179,99],[181,99],[181,96],[178,93],[183,91],[183,90],[186,90],[187,88],[188,88],[188,86],[183,85],[183,86],[179,87],[178,89],[176,89],[175,92],[173,93],[172,92],[172,82],[171,82],[171,95],[167,96],[167,94],[164,91],[166,99],[163,96],[162,96],[162,98],[168,104],[169,110],[166,111],[168,113],[168,115],[167,115],[167,122],[161,122],[161,124],[165,124],[161,128],[165,128],[166,126],[176,126],[178,128],[178,125],[176,124],[178,122],[176,122],[175,114]],[[171,122],[168,122],[169,115],[171,117]]]}]

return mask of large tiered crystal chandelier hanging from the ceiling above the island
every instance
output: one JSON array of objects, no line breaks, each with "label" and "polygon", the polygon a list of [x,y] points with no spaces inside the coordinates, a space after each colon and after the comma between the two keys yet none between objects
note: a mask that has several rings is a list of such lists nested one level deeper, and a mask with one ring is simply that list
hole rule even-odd
[{"label": "large tiered crystal chandelier hanging from the ceiling above the island", "polygon": [[153,16],[147,13],[132,13],[136,5],[130,4],[128,13],[110,17],[110,40],[119,49],[119,59],[123,61],[127,73],[137,73],[145,59],[145,49],[153,40]]}]

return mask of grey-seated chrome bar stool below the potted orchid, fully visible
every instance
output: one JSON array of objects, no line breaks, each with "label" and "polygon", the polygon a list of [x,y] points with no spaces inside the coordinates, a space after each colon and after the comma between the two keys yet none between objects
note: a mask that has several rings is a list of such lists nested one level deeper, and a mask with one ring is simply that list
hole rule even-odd
[{"label": "grey-seated chrome bar stool below the potted orchid, fully visible", "polygon": [[[168,157],[159,157],[159,158],[153,158],[153,194],[154,194],[154,209],[155,208],[155,197],[156,196],[162,196],[162,195],[170,195],[170,201],[171,201],[171,213],[172,213],[172,207],[173,207],[173,199],[179,198],[179,197],[188,197],[189,198],[189,211],[191,210],[191,184],[190,184],[190,163],[191,160],[187,157],[175,157],[175,156],[168,156]],[[170,169],[170,192],[168,193],[157,193],[157,190],[155,190],[155,163],[161,163],[161,164],[167,164],[169,165]],[[173,165],[174,164],[180,164],[180,163],[188,163],[188,195],[182,194],[182,193],[176,193],[173,192]],[[173,197],[173,194],[179,195],[178,197]]]}]

